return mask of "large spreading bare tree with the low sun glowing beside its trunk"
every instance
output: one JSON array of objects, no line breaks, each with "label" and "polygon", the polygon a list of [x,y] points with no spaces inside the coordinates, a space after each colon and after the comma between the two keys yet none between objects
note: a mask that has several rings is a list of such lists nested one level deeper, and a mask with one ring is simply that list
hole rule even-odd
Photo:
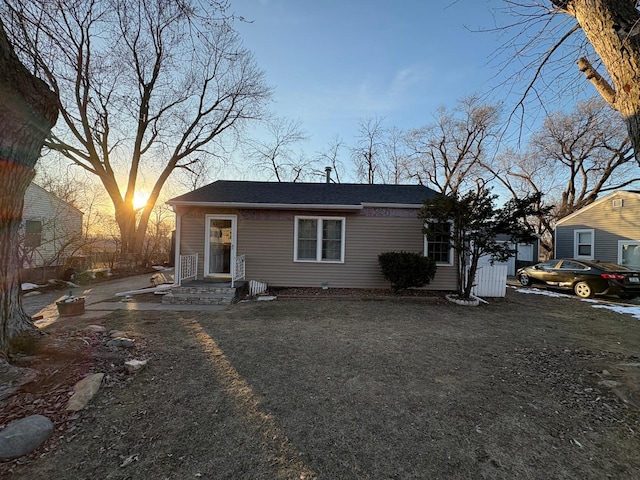
[{"label": "large spreading bare tree with the low sun glowing beside its trunk", "polygon": [[[59,96],[47,146],[96,175],[124,253],[139,253],[169,176],[210,158],[270,90],[225,1],[4,0],[20,54]],[[147,204],[134,206],[140,176]]]}]

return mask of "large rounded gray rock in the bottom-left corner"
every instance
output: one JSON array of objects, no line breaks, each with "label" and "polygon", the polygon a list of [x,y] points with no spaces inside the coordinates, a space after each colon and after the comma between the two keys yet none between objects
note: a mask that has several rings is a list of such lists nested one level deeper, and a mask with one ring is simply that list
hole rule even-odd
[{"label": "large rounded gray rock in the bottom-left corner", "polygon": [[0,431],[0,460],[10,460],[33,452],[53,433],[53,422],[43,415],[11,422]]}]

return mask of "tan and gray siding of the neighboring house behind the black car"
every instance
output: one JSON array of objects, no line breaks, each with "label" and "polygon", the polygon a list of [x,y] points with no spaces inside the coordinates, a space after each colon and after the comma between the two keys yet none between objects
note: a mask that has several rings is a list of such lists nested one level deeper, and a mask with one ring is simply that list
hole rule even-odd
[{"label": "tan and gray siding of the neighboring house behind the black car", "polygon": [[[613,200],[622,200],[614,206]],[[598,204],[563,219],[556,227],[556,258],[574,256],[574,232],[594,230],[594,258],[618,261],[618,240],[640,241],[640,195],[617,192]]]}]

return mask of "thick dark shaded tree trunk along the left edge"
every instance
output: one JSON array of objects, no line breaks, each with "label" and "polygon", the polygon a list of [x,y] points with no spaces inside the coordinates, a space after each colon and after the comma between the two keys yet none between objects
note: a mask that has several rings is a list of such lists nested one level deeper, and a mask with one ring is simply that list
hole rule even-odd
[{"label": "thick dark shaded tree trunk along the left edge", "polygon": [[18,233],[24,193],[57,116],[57,97],[20,63],[0,21],[0,357],[11,338],[35,328],[20,297]]}]

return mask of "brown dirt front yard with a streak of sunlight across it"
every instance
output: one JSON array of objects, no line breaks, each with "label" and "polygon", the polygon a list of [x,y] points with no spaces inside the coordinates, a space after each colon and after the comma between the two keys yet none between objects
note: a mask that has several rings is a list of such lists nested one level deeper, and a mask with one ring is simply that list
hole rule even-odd
[{"label": "brown dirt front yard with a streak of sunlight across it", "polygon": [[[3,408],[54,419],[11,479],[638,479],[640,320],[513,290],[489,305],[303,299],[57,322]],[[126,374],[125,359],[149,359]],[[75,381],[105,372],[79,414]]]}]

